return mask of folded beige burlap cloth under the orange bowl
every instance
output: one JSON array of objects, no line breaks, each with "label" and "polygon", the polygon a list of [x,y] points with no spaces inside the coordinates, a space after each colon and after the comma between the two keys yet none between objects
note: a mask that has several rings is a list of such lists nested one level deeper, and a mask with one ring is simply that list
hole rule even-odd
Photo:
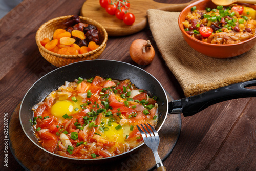
[{"label": "folded beige burlap cloth under the orange bowl", "polygon": [[226,59],[203,55],[183,39],[178,25],[179,14],[155,9],[147,11],[157,47],[185,96],[256,78],[256,47]]}]

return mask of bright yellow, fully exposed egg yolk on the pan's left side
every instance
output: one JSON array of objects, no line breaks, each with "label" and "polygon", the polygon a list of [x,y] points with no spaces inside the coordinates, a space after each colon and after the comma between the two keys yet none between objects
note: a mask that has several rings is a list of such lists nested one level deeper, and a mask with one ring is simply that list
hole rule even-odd
[{"label": "bright yellow, fully exposed egg yolk on the pan's left side", "polygon": [[51,113],[56,117],[61,117],[65,114],[72,114],[74,105],[71,101],[63,100],[57,101],[51,108]]}]

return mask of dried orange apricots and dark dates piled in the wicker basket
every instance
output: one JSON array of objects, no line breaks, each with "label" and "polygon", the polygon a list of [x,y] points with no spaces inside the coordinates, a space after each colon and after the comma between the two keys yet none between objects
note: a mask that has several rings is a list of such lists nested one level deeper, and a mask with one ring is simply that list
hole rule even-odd
[{"label": "dried orange apricots and dark dates piled in the wicker basket", "polygon": [[72,16],[63,22],[66,29],[57,29],[53,38],[40,41],[46,49],[62,55],[78,55],[99,47],[98,29],[94,25],[81,23],[79,16]]}]

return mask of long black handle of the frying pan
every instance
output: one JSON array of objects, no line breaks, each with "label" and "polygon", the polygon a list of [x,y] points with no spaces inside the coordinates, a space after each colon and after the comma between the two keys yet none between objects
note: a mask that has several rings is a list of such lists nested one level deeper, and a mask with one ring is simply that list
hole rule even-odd
[{"label": "long black handle of the frying pan", "polygon": [[222,101],[256,97],[256,90],[247,89],[246,87],[249,86],[256,86],[256,80],[231,84],[199,95],[174,100],[169,102],[169,114],[183,113],[184,116],[192,116],[208,106]]}]

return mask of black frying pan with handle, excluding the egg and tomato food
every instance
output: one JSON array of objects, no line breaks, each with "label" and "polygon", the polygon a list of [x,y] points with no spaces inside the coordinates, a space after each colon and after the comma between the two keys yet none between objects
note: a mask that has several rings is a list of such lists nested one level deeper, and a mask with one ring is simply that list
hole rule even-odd
[{"label": "black frying pan with handle, excluding the egg and tomato food", "polygon": [[[183,98],[181,100],[174,100],[168,103],[166,93],[158,80],[151,74],[136,66],[130,65],[129,63],[112,60],[88,60],[76,62],[64,67],[60,67],[40,78],[29,89],[22,101],[22,104],[20,105],[20,124],[22,125],[25,134],[35,145],[46,151],[38,143],[29,122],[29,119],[33,118],[33,112],[31,110],[32,107],[44,100],[49,93],[56,90],[59,86],[64,84],[65,81],[73,82],[74,79],[78,77],[91,78],[95,77],[96,75],[103,78],[112,78],[117,80],[130,79],[137,88],[147,90],[151,96],[157,96],[157,103],[159,107],[159,122],[156,126],[157,131],[161,129],[167,114],[183,113],[184,116],[191,116],[202,111],[208,106],[221,101],[244,97],[256,97],[256,90],[245,88],[256,85],[256,80],[253,80],[232,84],[230,86],[208,91],[196,96]],[[136,149],[143,144],[126,153],[102,159],[73,159],[62,157],[48,151],[46,152],[64,159],[73,160],[74,162],[96,164],[123,158],[136,151]]]}]

